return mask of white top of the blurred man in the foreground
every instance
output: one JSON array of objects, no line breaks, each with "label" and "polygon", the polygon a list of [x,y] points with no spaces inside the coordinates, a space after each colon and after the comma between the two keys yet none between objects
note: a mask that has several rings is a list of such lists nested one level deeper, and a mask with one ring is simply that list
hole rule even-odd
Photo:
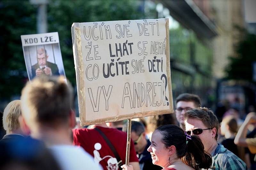
[{"label": "white top of the blurred man in the foreground", "polygon": [[92,156],[83,148],[73,145],[55,145],[49,147],[62,170],[102,170]]}]

